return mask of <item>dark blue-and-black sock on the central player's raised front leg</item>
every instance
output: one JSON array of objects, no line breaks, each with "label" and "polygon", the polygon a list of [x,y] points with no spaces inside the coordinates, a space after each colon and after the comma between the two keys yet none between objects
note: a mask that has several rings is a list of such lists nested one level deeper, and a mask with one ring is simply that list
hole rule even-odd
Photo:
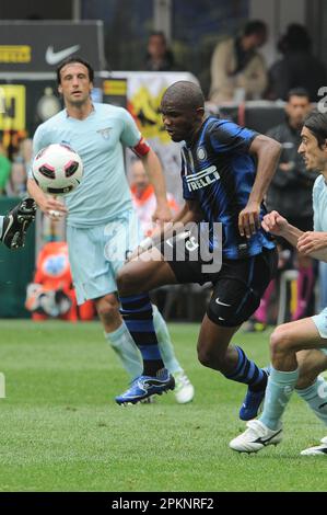
[{"label": "dark blue-and-black sock on the central player's raised front leg", "polygon": [[152,305],[148,294],[120,297],[121,316],[143,358],[143,375],[155,376],[164,364],[153,327]]}]

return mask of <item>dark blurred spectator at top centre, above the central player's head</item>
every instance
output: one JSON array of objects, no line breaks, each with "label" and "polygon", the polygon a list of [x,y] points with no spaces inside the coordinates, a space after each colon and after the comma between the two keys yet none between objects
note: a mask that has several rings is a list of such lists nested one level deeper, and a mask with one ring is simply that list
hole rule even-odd
[{"label": "dark blurred spectator at top centre, above the central player's head", "polygon": [[145,70],[148,71],[176,71],[178,67],[172,50],[167,47],[163,32],[152,32],[148,41]]}]

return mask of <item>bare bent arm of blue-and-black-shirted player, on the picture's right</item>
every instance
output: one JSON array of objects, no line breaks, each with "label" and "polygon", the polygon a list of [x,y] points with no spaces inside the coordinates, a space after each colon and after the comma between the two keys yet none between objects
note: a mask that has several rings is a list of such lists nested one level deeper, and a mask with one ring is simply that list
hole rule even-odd
[{"label": "bare bent arm of blue-and-black-shirted player, on the picture's right", "polygon": [[249,153],[257,159],[256,179],[247,205],[238,215],[241,236],[250,238],[260,228],[260,205],[278,165],[281,145],[264,135],[254,138]]}]

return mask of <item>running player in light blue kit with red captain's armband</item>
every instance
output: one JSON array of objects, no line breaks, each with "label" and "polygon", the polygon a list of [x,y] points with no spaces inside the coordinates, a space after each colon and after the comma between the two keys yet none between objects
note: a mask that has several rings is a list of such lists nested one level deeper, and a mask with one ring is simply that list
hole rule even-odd
[{"label": "running player in light blue kit with red captain's armband", "polygon": [[[47,216],[51,217],[54,211],[68,214],[67,241],[78,304],[94,299],[105,339],[133,379],[141,374],[142,362],[119,314],[115,279],[126,256],[140,241],[125,173],[125,147],[130,147],[140,157],[154,186],[154,220],[170,220],[171,211],[156,154],[142,138],[128,111],[92,102],[93,77],[90,64],[79,57],[60,64],[57,81],[65,108],[39,125],[33,138],[34,154],[50,144],[72,147],[83,160],[83,181],[67,196],[67,206],[45,195],[32,178],[28,179],[28,191]],[[154,318],[166,366],[177,384],[176,400],[188,402],[192,399],[194,388],[175,357],[159,310]]]}]

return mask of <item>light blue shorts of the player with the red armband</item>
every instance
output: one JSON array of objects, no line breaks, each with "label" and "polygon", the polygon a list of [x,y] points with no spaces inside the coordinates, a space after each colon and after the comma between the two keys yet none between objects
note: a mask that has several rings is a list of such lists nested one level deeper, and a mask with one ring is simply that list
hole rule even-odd
[{"label": "light blue shorts of the player with the red armband", "polygon": [[69,262],[79,305],[117,291],[116,274],[141,240],[141,227],[132,210],[105,226],[67,227]]}]

